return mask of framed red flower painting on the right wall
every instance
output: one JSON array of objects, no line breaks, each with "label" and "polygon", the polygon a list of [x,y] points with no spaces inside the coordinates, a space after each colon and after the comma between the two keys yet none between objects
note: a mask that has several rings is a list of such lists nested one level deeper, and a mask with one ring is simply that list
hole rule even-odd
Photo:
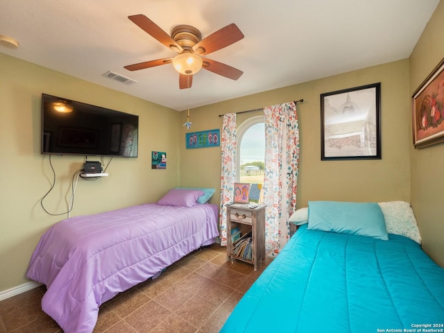
[{"label": "framed red flower painting on the right wall", "polygon": [[444,142],[444,58],[413,92],[413,146]]}]

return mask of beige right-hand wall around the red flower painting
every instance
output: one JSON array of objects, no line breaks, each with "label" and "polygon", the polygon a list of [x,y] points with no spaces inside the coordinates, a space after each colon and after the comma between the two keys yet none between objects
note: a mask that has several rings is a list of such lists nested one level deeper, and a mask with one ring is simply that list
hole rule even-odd
[{"label": "beige right-hand wall around the red flower painting", "polygon": [[[440,1],[410,57],[409,96],[444,58],[444,2]],[[443,96],[441,96],[442,98]],[[411,131],[411,122],[409,123]],[[422,149],[410,145],[411,204],[422,235],[422,248],[444,266],[444,144]]]}]

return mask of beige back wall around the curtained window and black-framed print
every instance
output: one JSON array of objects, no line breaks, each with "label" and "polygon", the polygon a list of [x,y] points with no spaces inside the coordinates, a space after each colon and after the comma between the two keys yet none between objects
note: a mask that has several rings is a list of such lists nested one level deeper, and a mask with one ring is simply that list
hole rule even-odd
[{"label": "beige back wall around the curtained window and black-framed print", "polygon": [[[190,110],[190,131],[221,128],[219,114],[262,108],[298,99],[300,173],[298,207],[308,200],[409,200],[408,60],[352,71],[300,85],[245,96]],[[381,82],[382,160],[321,161],[320,94]],[[233,83],[236,84],[236,83]],[[247,117],[241,114],[238,126]],[[182,122],[186,121],[182,112]],[[220,188],[220,148],[185,148],[186,128],[180,134],[180,182]],[[212,202],[219,203],[216,191]]]}]

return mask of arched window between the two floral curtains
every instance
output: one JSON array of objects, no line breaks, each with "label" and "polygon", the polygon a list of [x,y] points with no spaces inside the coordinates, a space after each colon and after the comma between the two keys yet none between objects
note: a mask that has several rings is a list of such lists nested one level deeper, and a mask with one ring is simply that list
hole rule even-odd
[{"label": "arched window between the two floral curtains", "polygon": [[264,183],[264,116],[246,119],[237,128],[237,181]]}]

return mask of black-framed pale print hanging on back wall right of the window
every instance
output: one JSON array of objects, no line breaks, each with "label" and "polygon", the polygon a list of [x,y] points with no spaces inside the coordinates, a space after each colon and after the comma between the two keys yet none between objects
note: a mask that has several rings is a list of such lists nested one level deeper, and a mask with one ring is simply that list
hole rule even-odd
[{"label": "black-framed pale print hanging on back wall right of the window", "polygon": [[381,159],[381,83],[321,94],[321,160]]}]

